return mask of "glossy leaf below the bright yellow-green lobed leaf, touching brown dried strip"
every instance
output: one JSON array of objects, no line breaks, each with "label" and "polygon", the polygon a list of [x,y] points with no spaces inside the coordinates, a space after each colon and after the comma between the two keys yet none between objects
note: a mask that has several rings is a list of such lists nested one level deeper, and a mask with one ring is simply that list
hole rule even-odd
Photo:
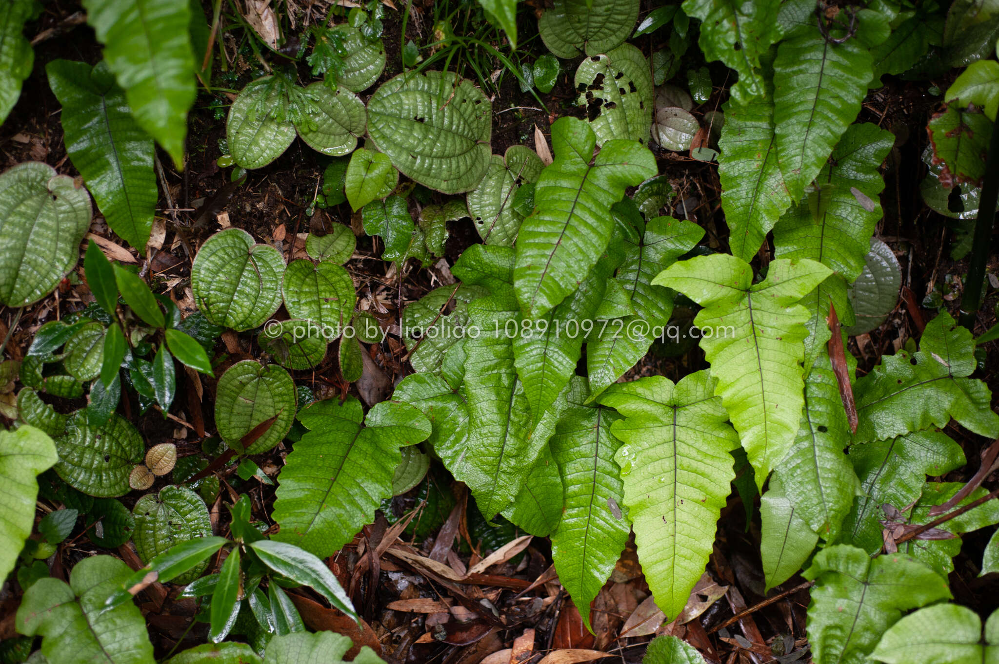
[{"label": "glossy leaf below the bright yellow-green lobed leaf, touching brown dried strip", "polygon": [[[820,354],[805,377],[801,424],[787,457],[775,471],[796,514],[827,541],[835,541],[860,491],[843,454],[850,429],[836,377]],[[772,483],[772,480],[771,480]]]}]

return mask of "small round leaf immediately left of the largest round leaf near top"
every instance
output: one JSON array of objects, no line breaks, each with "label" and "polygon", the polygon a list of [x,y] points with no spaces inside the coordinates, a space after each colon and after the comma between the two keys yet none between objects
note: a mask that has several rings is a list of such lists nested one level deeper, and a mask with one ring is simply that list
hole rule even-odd
[{"label": "small round leaf immediately left of the largest round leaf near top", "polygon": [[304,123],[297,127],[302,140],[331,157],[354,152],[368,121],[364,103],[350,90],[341,87],[333,91],[322,81],[310,85],[306,92],[319,113],[308,114],[309,126]]}]

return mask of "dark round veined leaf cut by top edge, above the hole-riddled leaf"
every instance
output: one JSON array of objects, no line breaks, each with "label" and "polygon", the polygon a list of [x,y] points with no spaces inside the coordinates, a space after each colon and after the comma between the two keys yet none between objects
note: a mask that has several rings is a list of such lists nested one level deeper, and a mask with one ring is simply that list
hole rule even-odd
[{"label": "dark round veined leaf cut by top edge, above the hole-riddled leaf", "polygon": [[554,0],[537,19],[537,32],[559,58],[606,53],[627,39],[638,5],[638,0]]}]

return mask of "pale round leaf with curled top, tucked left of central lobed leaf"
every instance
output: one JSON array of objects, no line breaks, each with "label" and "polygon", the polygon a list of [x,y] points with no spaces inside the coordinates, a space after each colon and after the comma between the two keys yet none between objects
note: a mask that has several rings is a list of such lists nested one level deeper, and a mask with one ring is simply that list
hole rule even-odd
[{"label": "pale round leaf with curled top, tucked left of central lobed leaf", "polygon": [[486,176],[469,191],[469,215],[487,244],[513,246],[523,215],[513,209],[520,184],[536,182],[544,168],[537,153],[524,146],[510,146],[503,157],[494,155]]}]

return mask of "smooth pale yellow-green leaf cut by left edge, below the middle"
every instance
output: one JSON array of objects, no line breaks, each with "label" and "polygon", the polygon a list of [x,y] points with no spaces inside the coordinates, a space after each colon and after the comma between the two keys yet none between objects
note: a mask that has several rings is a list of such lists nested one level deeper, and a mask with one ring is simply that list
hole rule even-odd
[{"label": "smooth pale yellow-green leaf cut by left edge, below the middle", "polygon": [[36,478],[59,461],[56,447],[45,432],[25,425],[0,432],[0,579],[17,562],[24,540],[35,523]]}]

